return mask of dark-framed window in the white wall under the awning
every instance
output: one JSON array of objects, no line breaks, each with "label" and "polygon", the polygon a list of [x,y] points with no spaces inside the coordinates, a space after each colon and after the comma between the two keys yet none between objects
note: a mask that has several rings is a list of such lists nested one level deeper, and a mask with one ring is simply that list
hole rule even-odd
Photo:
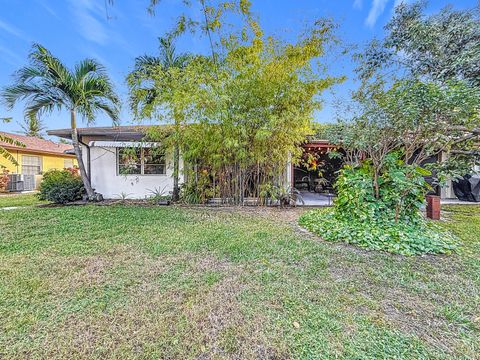
[{"label": "dark-framed window in the white wall under the awning", "polygon": [[165,154],[156,148],[118,148],[120,175],[164,175]]}]

